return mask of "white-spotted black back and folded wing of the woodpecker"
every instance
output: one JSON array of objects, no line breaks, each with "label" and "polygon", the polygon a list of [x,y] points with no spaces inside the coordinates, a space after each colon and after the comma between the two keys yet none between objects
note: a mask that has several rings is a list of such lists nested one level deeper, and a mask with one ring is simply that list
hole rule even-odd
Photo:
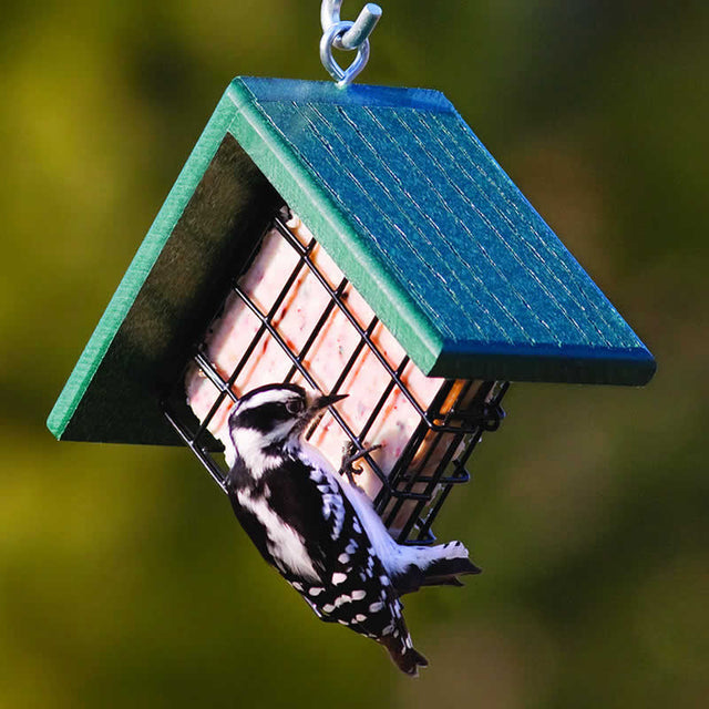
[{"label": "white-spotted black back and folded wing of the woodpecker", "polygon": [[[376,639],[403,671],[417,674],[425,660],[412,648],[397,589],[335,476],[290,458],[255,482],[246,471],[239,474],[237,461],[227,491],[239,522],[264,558],[318,617]],[[279,524],[265,526],[254,500],[267,500]],[[274,540],[275,528],[284,526],[294,532],[289,549]],[[314,573],[308,573],[306,559]]]}]

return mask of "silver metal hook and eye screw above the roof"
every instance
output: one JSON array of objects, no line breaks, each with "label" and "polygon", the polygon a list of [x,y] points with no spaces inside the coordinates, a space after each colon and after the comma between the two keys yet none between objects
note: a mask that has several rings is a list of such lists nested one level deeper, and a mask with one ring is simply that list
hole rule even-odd
[{"label": "silver metal hook and eye screw above the roof", "polygon": [[[323,0],[320,8],[320,60],[338,86],[350,84],[364,69],[369,60],[369,35],[379,22],[382,10],[378,4],[368,2],[354,22],[340,19],[342,0]],[[332,56],[332,48],[348,51],[357,50],[354,61],[342,69]]]}]

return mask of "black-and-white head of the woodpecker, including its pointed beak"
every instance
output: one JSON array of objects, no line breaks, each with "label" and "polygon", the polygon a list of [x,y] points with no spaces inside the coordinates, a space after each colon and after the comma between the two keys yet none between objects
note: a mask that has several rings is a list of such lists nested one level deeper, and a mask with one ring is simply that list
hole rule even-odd
[{"label": "black-and-white head of the woodpecker, including its pointed beak", "polygon": [[229,433],[243,459],[297,441],[308,424],[347,394],[323,395],[298,384],[266,384],[244,394],[229,415]]}]

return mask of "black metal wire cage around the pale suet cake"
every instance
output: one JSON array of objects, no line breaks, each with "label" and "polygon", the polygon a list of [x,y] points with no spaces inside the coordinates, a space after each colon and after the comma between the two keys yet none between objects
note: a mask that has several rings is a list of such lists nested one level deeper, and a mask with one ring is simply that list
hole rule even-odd
[{"label": "black metal wire cage around the pale suet cake", "polygon": [[[217,484],[225,489],[225,475],[228,466],[220,452],[224,448],[215,441],[209,432],[215,417],[230,402],[238,401],[235,392],[237,380],[248,367],[254,367],[264,342],[276,343],[289,361],[289,369],[282,381],[299,381],[312,389],[323,389],[321,379],[314,371],[308,358],[323,328],[333,314],[345,317],[348,327],[356,335],[356,345],[349,352],[346,363],[338,372],[337,379],[328,388],[327,393],[348,393],[351,384],[349,378],[352,368],[363,356],[373,357],[386,371],[386,384],[377,401],[370,405],[366,415],[357,421],[348,419],[336,409],[330,409],[339,433],[346,445],[348,470],[341,472],[357,473],[366,469],[378,480],[377,491],[371,493],[374,506],[384,524],[400,543],[429,544],[435,541],[431,526],[445,502],[451,490],[470,480],[465,465],[482,434],[495,431],[504,418],[501,407],[508,382],[436,380],[440,388],[429,402],[422,402],[420,395],[412,390],[408,369],[413,368],[405,353],[392,361],[391,352],[378,341],[377,333],[383,328],[377,316],[372,314],[369,321],[362,322],[354,312],[350,301],[352,285],[343,276],[333,284],[330,274],[326,274],[315,257],[319,245],[308,237],[299,238],[288,226],[288,210],[282,208],[274,217],[256,244],[251,256],[237,268],[230,282],[227,298],[236,299],[256,318],[257,327],[250,339],[239,342],[239,358],[230,371],[223,371],[209,356],[205,339],[197,342],[192,356],[193,368],[213,388],[214,402],[201,421],[186,404],[185,379],[183,376],[174,383],[163,401],[165,417],[193,451]],[[280,291],[268,307],[264,307],[243,286],[243,277],[248,273],[256,255],[263,247],[267,234],[276,234],[295,254],[290,273],[282,279]],[[294,346],[279,328],[277,314],[284,304],[292,297],[299,278],[307,273],[327,292],[326,305],[312,323],[305,339]],[[226,305],[223,304],[215,320],[220,317]],[[209,331],[209,328],[206,332]],[[348,379],[349,378],[349,379]],[[418,423],[390,470],[382,469],[378,461],[374,445],[370,440],[371,432],[387,417],[387,402],[394,394],[403,395],[413,411]],[[316,431],[314,427],[308,435]]]}]

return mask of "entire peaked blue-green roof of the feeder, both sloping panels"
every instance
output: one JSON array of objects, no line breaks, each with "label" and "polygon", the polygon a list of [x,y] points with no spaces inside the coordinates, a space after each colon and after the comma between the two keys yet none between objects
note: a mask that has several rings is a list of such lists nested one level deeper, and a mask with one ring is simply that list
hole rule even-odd
[{"label": "entire peaked blue-green roof of the feeder, both sloping panels", "polygon": [[439,92],[235,79],[49,419],[175,442],[158,399],[280,197],[439,377],[644,384],[643,342]]}]

